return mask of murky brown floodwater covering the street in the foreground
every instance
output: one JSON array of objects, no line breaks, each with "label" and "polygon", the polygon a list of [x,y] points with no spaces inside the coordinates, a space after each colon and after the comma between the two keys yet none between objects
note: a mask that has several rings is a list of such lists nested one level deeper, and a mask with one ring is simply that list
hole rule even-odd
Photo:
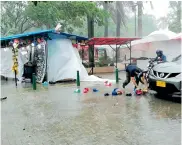
[{"label": "murky brown floodwater covering the street in the foreground", "polygon": [[[1,97],[8,98],[1,101],[1,144],[181,144],[179,103],[152,95],[105,97],[115,86],[102,83],[81,83],[84,87],[99,92],[74,93],[75,84],[39,85],[33,91],[2,82]],[[127,91],[131,90],[129,86]]]}]

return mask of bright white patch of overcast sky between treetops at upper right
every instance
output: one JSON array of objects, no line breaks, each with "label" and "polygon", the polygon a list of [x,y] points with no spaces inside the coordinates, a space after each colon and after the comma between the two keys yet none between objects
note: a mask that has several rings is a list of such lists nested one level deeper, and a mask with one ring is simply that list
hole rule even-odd
[{"label": "bright white patch of overcast sky between treetops at upper right", "polygon": [[169,1],[166,0],[153,0],[152,4],[154,9],[152,10],[150,4],[144,4],[144,13],[152,14],[157,19],[166,16],[168,13],[168,3]]}]

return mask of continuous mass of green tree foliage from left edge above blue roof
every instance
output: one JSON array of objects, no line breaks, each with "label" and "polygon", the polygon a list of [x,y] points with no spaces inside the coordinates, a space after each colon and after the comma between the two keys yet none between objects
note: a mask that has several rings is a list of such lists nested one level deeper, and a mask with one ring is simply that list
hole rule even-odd
[{"label": "continuous mass of green tree foliage from left edge above blue roof", "polygon": [[1,35],[24,33],[38,29],[54,28],[62,24],[63,31],[72,33],[81,28],[87,16],[94,17],[97,25],[104,24],[108,14],[95,2],[84,1],[47,1],[38,2],[2,2]]}]

